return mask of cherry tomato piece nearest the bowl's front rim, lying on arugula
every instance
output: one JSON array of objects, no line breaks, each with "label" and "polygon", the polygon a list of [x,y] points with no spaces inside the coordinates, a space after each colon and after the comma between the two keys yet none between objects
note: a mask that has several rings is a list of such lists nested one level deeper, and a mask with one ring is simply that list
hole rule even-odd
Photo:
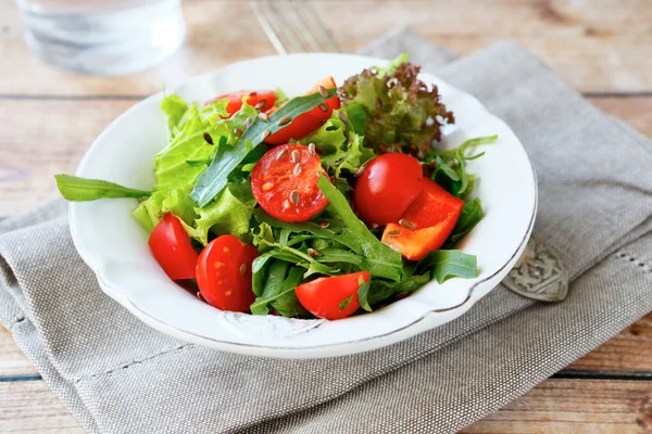
[{"label": "cherry tomato piece nearest the bowl's front rim, lying on arugula", "polygon": [[371,275],[360,271],[321,278],[297,286],[294,292],[301,306],[315,317],[330,320],[347,318],[360,307],[360,278],[366,283]]}]

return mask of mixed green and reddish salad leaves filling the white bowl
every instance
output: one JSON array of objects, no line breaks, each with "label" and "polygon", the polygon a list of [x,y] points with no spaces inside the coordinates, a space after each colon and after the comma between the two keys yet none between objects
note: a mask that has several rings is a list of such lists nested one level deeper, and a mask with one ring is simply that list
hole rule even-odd
[{"label": "mixed green and reddish salad leaves filling the white bowl", "polygon": [[[249,261],[237,266],[240,267],[238,278],[251,271],[253,294],[243,303],[248,305],[255,297],[250,305],[252,315],[313,318],[299,302],[296,288],[315,279],[360,271],[371,275],[368,281],[359,277],[356,292],[338,297],[334,308],[340,312],[351,309],[356,296],[360,303],[356,314],[371,312],[431,280],[443,283],[454,277],[473,279],[477,275],[477,258],[454,250],[485,215],[480,199],[472,197],[476,178],[467,171],[466,162],[484,155],[484,152],[472,153],[474,148],[493,143],[498,138],[480,137],[455,149],[439,150],[436,142],[441,138],[441,127],[454,123],[454,117],[440,102],[437,87],[419,80],[418,73],[419,67],[409,63],[408,55],[403,54],[386,67],[362,71],[339,89],[330,87],[335,86],[333,80],[328,89],[324,88],[327,81],[321,81],[323,85],[314,88],[318,91],[293,99],[276,89],[274,107],[267,114],[259,113],[263,110],[260,103],[254,107],[247,104],[247,100],[239,108],[229,106],[229,98],[201,106],[170,94],[161,101],[167,141],[154,156],[156,182],[151,191],[68,175],[57,175],[57,184],[70,201],[138,199],[133,215],[148,232],[164,217],[164,221],[170,220],[166,215],[172,214],[176,217],[174,220],[180,222],[178,232],[185,230],[192,239],[192,247],[189,247],[192,254],[226,234],[239,239],[230,239],[236,244],[249,244],[247,248],[253,252]],[[339,99],[341,106],[331,104],[337,101],[334,98]],[[269,135],[299,123],[299,117],[318,116],[317,112],[322,116],[297,137],[302,137],[300,144],[310,144],[311,158],[318,154],[325,174],[318,173],[316,188],[312,186],[315,194],[319,194],[321,200],[325,197],[328,205],[317,209],[318,214],[312,218],[305,217],[305,221],[281,221],[267,214],[254,199],[252,182],[273,186],[271,178],[255,183],[262,166],[259,165],[256,171],[256,164],[271,149],[271,144],[265,143]],[[294,152],[304,151],[299,146]],[[368,173],[365,167],[371,167],[369,162],[386,152],[417,157],[424,176],[464,201],[455,227],[441,250],[423,257],[427,252],[424,251],[418,261],[404,260],[401,253],[384,244],[380,241],[383,227],[367,227],[352,205],[356,177]],[[279,159],[281,156],[276,158]],[[290,176],[299,177],[302,170],[306,171],[306,166],[298,164],[298,159],[290,163],[287,171]],[[318,168],[316,162],[315,166]],[[287,179],[285,174],[281,171]],[[298,200],[290,201],[299,197],[298,191],[289,190],[283,192],[280,201],[285,199],[283,203],[288,207],[290,203],[297,206]],[[456,201],[456,204],[461,206],[462,202]],[[275,214],[273,208],[269,212],[279,218],[284,216]],[[450,231],[450,226],[448,229]],[[229,254],[227,247],[222,252]],[[195,263],[190,263],[192,270]],[[224,266],[217,261],[210,264],[216,269]],[[189,276],[195,276],[195,271]],[[230,296],[230,289],[226,293],[225,296]]]}]

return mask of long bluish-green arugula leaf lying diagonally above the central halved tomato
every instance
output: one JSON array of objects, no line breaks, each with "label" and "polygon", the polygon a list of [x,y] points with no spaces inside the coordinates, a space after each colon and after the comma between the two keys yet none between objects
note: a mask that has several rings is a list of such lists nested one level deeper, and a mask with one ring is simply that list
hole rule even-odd
[{"label": "long bluish-green arugula leaf lying diagonally above the central halved tomato", "polygon": [[190,193],[190,197],[197,202],[200,208],[205,207],[226,187],[228,175],[244,159],[247,154],[261,144],[268,133],[274,133],[285,128],[285,125],[278,125],[280,118],[290,116],[293,119],[313,110],[323,103],[324,100],[335,97],[336,92],[337,89],[331,88],[327,89],[326,98],[322,97],[319,92],[305,97],[297,97],[269,116],[268,123],[254,117],[249,128],[244,130],[244,133],[242,133],[233,146],[220,146],[217,149],[209,168],[199,176],[195,189]]}]

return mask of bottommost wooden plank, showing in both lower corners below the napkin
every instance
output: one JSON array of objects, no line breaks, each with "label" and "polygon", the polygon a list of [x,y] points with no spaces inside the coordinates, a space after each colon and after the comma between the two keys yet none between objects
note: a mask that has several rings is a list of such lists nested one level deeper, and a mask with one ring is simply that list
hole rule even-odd
[{"label": "bottommost wooden plank, showing in both lower corners below the napkin", "polygon": [[[652,431],[652,382],[547,380],[462,433],[635,434]],[[0,383],[2,433],[84,429],[42,381]]]}]

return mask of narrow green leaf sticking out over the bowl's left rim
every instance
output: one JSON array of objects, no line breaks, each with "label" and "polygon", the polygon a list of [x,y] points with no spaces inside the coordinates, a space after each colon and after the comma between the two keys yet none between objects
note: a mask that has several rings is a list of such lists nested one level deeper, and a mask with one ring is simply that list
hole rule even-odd
[{"label": "narrow green leaf sticking out over the bowl's left rim", "polygon": [[151,191],[129,189],[114,182],[79,178],[72,175],[54,175],[57,187],[63,197],[71,202],[96,201],[106,197],[147,197]]}]

